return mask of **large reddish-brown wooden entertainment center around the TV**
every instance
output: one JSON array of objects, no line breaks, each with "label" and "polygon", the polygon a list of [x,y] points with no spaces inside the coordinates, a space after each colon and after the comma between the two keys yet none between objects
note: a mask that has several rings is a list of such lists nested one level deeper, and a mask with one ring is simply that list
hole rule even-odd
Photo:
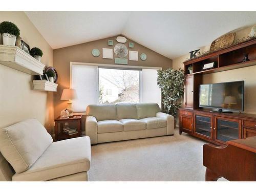
[{"label": "large reddish-brown wooden entertainment center around the TV", "polygon": [[[242,62],[246,53],[250,60]],[[202,70],[203,65],[210,62],[215,62],[214,68]],[[253,65],[256,65],[256,39],[185,61],[184,108],[179,109],[180,134],[185,132],[215,144],[256,136],[256,115],[210,112],[199,107],[199,86],[204,74]],[[189,66],[193,67],[191,74],[188,74]]]}]

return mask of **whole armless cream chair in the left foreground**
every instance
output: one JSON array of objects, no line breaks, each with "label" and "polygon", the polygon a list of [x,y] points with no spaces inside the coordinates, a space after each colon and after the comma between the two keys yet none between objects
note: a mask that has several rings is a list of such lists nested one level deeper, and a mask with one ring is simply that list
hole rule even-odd
[{"label": "whole armless cream chair in the left foreground", "polygon": [[0,181],[88,181],[89,137],[52,142],[36,119],[0,130]]}]

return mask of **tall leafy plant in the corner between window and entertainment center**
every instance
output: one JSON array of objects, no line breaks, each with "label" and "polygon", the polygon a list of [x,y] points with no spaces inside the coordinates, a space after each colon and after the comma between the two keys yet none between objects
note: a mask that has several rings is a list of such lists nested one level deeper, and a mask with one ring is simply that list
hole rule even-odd
[{"label": "tall leafy plant in the corner between window and entertainment center", "polygon": [[181,106],[180,98],[184,94],[183,70],[158,70],[157,84],[162,90],[164,111],[176,117],[177,110]]}]

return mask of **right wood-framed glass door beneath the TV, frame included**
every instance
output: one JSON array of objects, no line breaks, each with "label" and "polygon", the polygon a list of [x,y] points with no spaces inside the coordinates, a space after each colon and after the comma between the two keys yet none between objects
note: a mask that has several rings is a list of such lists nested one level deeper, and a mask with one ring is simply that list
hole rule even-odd
[{"label": "right wood-framed glass door beneath the TV, frame included", "polygon": [[214,140],[225,143],[226,141],[241,139],[242,121],[239,119],[230,119],[225,117],[215,117]]}]

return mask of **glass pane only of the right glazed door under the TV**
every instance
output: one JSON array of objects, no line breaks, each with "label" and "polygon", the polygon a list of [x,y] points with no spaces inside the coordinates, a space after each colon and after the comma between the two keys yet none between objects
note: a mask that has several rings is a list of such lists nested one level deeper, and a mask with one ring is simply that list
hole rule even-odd
[{"label": "glass pane only of the right glazed door under the TV", "polygon": [[216,123],[217,130],[215,131],[217,131],[217,140],[226,142],[234,139],[239,139],[239,122],[217,118]]}]

